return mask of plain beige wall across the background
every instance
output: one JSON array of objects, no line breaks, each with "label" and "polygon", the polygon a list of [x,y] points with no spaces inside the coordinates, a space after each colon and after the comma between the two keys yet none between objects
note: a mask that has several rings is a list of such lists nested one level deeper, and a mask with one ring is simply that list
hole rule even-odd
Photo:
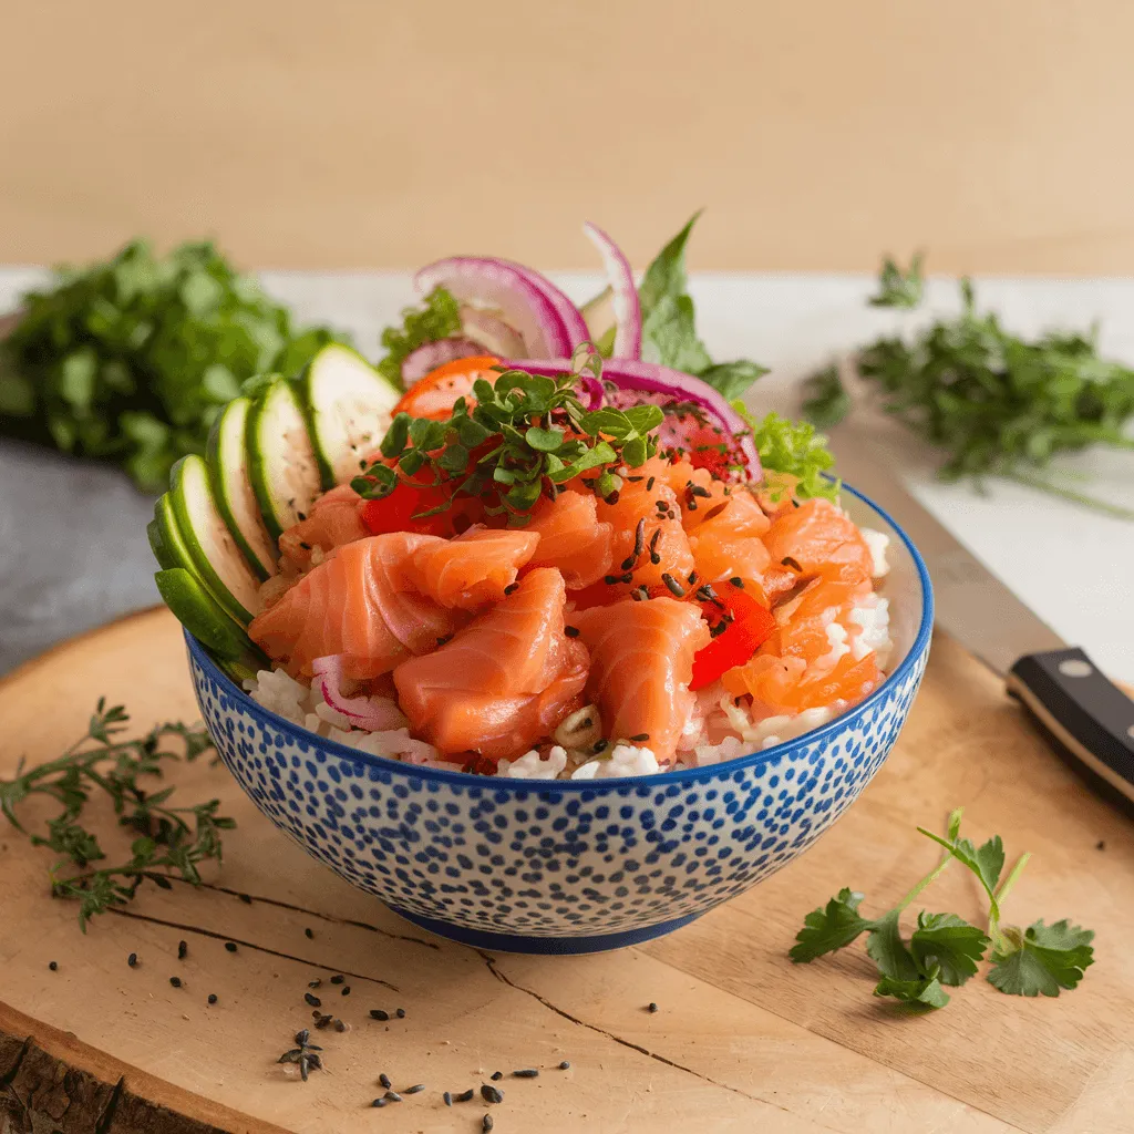
[{"label": "plain beige wall across the background", "polygon": [[0,262],[1134,272],[1131,0],[2,0]]}]

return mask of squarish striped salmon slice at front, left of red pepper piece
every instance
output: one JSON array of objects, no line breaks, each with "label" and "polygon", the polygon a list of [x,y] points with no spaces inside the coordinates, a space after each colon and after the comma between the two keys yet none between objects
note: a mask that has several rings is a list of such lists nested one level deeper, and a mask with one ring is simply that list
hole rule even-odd
[{"label": "squarish striped salmon slice at front, left of red pepper piece", "polygon": [[624,599],[570,617],[591,651],[587,692],[606,735],[648,737],[638,743],[659,763],[672,760],[696,700],[688,689],[693,655],[709,644],[701,609],[676,599]]}]

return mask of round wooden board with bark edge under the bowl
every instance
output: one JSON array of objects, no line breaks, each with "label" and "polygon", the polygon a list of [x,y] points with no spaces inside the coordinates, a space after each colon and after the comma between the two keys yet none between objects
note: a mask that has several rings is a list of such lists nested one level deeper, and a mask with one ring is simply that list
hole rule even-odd
[{"label": "round wooden board with bark edge under the bowl", "polygon": [[[58,755],[101,694],[139,727],[195,717],[172,617],[112,624],[0,684],[0,778],[22,756]],[[306,857],[223,768],[198,761],[172,780],[237,818],[223,868],[200,889],[146,886],[85,937],[74,904],[48,895],[51,853],[0,820],[0,1134],[474,1134],[489,1108],[477,1097],[448,1109],[441,1092],[497,1069],[497,1134],[1134,1131],[1134,826],[948,640],[890,760],[814,849],[688,928],[613,954],[490,956],[431,938]],[[865,890],[868,911],[904,894],[937,857],[915,824],[939,828],[957,805],[974,838],[1004,836],[1009,860],[1034,852],[1010,920],[1097,930],[1076,991],[1025,1000],[974,979],[913,1016],[871,996],[860,947],[788,962],[803,915],[839,887]],[[929,908],[975,920],[972,881],[947,871]],[[335,973],[348,997],[327,983]],[[348,1031],[315,1033],[325,1069],[302,1083],[276,1059],[311,1021],[315,978]],[[367,1015],[399,1007],[389,1023]],[[508,1075],[521,1067],[541,1074]],[[383,1072],[426,1090],[375,1111]]]}]

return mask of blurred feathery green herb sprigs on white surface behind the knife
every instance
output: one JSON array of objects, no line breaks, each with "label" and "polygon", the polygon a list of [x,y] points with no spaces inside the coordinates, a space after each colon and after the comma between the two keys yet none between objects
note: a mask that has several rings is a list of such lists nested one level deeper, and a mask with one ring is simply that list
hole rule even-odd
[{"label": "blurred feathery green herb sprigs on white surface behind the knife", "polygon": [[[922,296],[921,260],[908,272],[887,260],[875,306],[914,307]],[[960,281],[962,312],[937,320],[911,341],[883,337],[855,354],[858,374],[881,405],[938,446],[946,481],[999,476],[1126,519],[1134,510],[1057,483],[1052,459],[1093,445],[1134,449],[1134,370],[1101,358],[1095,332],[1050,331],[1035,341],[1012,335],[996,314],[976,310]],[[804,413],[830,426],[850,409],[838,370],[809,380]]]}]

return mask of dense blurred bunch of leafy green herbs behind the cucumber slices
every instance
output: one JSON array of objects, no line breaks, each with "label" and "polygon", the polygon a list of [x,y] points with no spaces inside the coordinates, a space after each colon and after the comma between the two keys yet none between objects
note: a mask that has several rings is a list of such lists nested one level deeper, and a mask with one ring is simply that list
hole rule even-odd
[{"label": "dense blurred bunch of leafy green herbs behind the cucumber slices", "polygon": [[0,432],[115,462],[159,491],[245,379],[294,374],[331,341],[347,340],[293,327],[211,244],[162,259],[136,240],[24,297],[0,342]]}]

